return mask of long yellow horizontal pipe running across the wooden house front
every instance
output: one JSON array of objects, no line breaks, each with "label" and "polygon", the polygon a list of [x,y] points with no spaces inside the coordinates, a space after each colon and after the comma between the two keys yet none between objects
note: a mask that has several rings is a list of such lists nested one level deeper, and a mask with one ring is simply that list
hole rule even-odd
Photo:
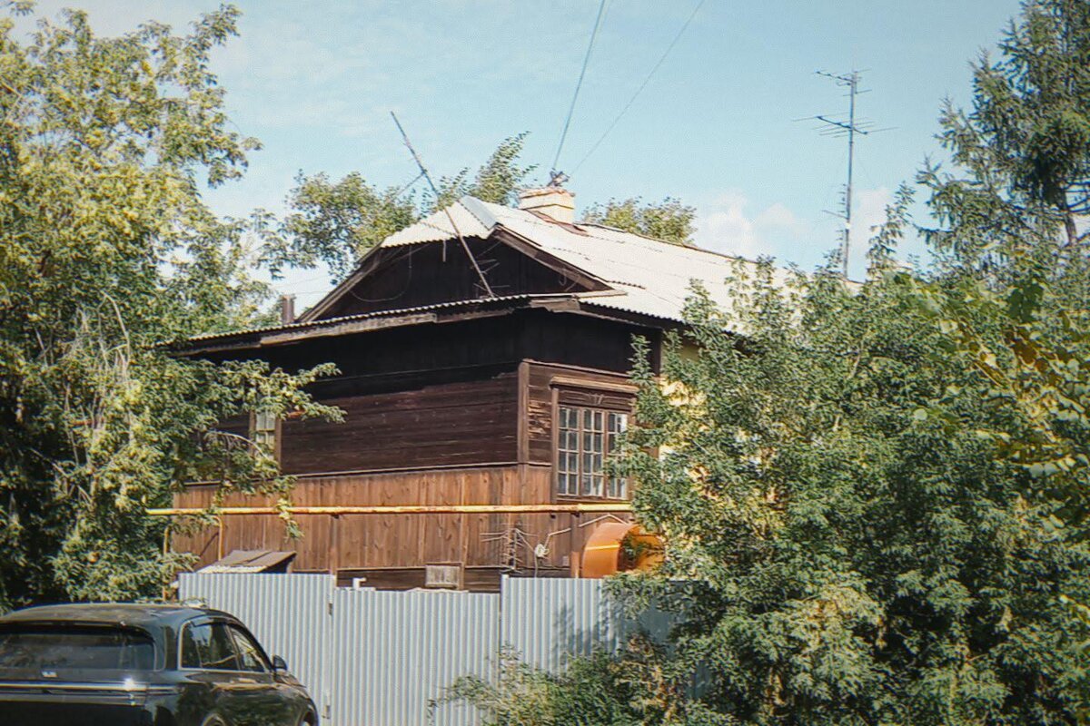
[{"label": "long yellow horizontal pipe running across the wooden house front", "polygon": [[450,505],[387,505],[387,506],[289,506],[280,509],[274,506],[221,507],[207,509],[199,507],[168,507],[147,509],[153,517],[174,517],[202,515],[209,512],[219,516],[232,515],[278,515],[290,514],[597,514],[604,512],[631,512],[628,502],[616,504],[450,504]]}]

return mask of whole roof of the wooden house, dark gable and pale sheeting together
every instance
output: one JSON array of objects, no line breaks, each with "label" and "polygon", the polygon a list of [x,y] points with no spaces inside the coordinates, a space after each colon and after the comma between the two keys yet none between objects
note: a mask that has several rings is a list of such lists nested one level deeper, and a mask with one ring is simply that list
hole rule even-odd
[{"label": "whole roof of the wooden house, dark gable and pale sheeting together", "polygon": [[[451,219],[494,287],[493,297],[480,284]],[[431,279],[417,264],[426,268],[429,256],[433,272],[441,272]],[[755,267],[753,261],[699,247],[673,245],[601,224],[565,224],[462,197],[447,210],[383,241],[360,260],[352,274],[294,323],[202,335],[191,339],[191,344],[199,342],[204,348],[265,345],[279,343],[281,337],[319,334],[317,331],[340,334],[410,324],[420,316],[434,317],[440,310],[494,315],[497,306],[582,310],[674,327],[685,322],[683,308],[694,282],[707,290],[715,304],[729,310],[736,288],[728,280],[740,272],[752,273]],[[784,269],[773,270],[774,282],[786,283],[788,274]],[[225,339],[233,343],[221,343]]]}]

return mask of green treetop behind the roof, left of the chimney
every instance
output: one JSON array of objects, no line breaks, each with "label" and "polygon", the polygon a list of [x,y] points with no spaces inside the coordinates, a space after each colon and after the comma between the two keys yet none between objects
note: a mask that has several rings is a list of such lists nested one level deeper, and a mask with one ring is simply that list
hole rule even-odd
[{"label": "green treetop behind the roof, left of the chimney", "polygon": [[514,204],[516,189],[534,169],[520,161],[525,136],[505,139],[472,177],[469,169],[440,177],[438,196],[428,192],[420,200],[405,195],[404,188],[368,184],[356,172],[337,182],[326,174],[300,174],[288,195],[290,211],[282,221],[264,210],[254,214],[255,229],[265,242],[265,259],[274,272],[289,264],[325,263],[339,280],[384,238],[463,195]]}]

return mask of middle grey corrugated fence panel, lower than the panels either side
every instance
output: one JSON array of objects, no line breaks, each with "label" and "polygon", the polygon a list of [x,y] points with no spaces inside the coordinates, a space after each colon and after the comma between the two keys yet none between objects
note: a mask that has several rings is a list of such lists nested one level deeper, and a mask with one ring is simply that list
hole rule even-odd
[{"label": "middle grey corrugated fence panel, lower than the panels either side", "polygon": [[[424,726],[428,701],[457,678],[492,674],[499,650],[499,596],[469,592],[340,589],[334,595],[336,726]],[[479,723],[444,704],[434,723]]]}]

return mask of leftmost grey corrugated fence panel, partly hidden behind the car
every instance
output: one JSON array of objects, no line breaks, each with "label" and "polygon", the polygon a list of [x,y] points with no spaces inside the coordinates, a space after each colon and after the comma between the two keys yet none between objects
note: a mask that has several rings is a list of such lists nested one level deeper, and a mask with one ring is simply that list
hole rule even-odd
[{"label": "leftmost grey corrugated fence panel, partly hidden behind the car", "polygon": [[269,656],[288,662],[318,715],[326,716],[331,696],[329,604],[336,589],[329,575],[217,573],[181,575],[178,594],[181,600],[199,598],[245,623]]}]

